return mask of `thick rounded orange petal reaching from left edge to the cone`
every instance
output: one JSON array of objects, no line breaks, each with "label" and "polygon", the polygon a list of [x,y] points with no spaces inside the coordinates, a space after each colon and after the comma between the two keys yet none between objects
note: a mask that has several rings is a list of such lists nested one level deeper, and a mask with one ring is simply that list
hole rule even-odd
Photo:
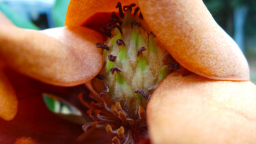
[{"label": "thick rounded orange petal reaching from left edge to the cone", "polygon": [[[43,32],[0,27],[0,59],[11,68],[53,85],[90,81],[102,68],[102,35],[85,27]],[[51,36],[49,36],[51,35]]]}]

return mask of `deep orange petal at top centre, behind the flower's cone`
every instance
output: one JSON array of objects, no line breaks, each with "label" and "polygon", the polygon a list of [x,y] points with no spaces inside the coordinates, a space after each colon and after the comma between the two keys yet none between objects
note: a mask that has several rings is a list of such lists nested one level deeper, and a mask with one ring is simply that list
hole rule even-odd
[{"label": "deep orange petal at top centre, behind the flower's cone", "polygon": [[118,9],[115,8],[118,2],[121,2],[122,5],[130,5],[136,3],[136,0],[71,0],[68,5],[65,25],[81,26],[85,24],[85,20],[96,13],[118,12]]}]

